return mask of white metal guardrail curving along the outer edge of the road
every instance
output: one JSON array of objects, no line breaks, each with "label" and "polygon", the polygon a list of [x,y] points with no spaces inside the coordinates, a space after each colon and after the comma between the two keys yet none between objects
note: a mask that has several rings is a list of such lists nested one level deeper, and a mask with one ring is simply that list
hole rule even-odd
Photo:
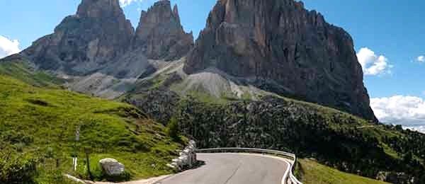
[{"label": "white metal guardrail curving along the outer edge of the road", "polygon": [[[295,169],[294,164],[297,163],[297,156],[295,154],[290,154],[285,151],[276,151],[271,149],[254,149],[254,148],[212,148],[212,149],[197,149],[196,153],[215,153],[215,152],[248,152],[248,153],[259,153],[259,154],[276,154],[280,156],[288,156],[293,159],[293,163],[290,163],[289,176],[288,178],[292,183],[302,184],[297,178],[293,175],[293,170]],[[285,181],[287,178],[284,178]]]}]

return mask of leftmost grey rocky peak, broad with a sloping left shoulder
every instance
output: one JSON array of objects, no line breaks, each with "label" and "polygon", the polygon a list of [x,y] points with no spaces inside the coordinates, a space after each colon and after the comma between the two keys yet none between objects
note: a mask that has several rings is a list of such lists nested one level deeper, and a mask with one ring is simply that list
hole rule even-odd
[{"label": "leftmost grey rocky peak, broad with a sloping left shoulder", "polygon": [[23,51],[40,69],[89,74],[114,62],[130,47],[134,28],[118,0],[83,0],[55,33]]}]

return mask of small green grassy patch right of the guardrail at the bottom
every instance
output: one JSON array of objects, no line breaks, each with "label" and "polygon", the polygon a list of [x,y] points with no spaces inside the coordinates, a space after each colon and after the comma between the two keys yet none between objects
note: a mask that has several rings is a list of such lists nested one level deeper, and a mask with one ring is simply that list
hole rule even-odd
[{"label": "small green grassy patch right of the guardrail at the bottom", "polygon": [[312,159],[301,159],[299,163],[298,178],[301,178],[301,182],[305,184],[385,184],[382,181],[338,171]]}]

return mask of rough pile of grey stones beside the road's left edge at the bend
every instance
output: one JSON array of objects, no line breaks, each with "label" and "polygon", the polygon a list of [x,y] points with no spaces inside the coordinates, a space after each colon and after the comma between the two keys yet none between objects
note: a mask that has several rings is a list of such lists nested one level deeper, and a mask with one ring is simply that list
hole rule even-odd
[{"label": "rough pile of grey stones beside the road's left edge at the bend", "polygon": [[196,159],[196,142],[190,141],[183,151],[180,152],[180,156],[177,159],[173,159],[169,167],[174,168],[176,171],[183,171],[184,169],[193,168],[198,162]]}]

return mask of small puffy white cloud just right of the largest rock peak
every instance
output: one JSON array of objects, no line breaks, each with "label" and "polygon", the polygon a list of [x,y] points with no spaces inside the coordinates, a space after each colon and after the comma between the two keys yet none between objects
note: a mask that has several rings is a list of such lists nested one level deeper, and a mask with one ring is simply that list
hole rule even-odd
[{"label": "small puffy white cloud just right of the largest rock peak", "polygon": [[378,56],[367,47],[358,51],[357,58],[365,75],[391,74],[392,65],[388,64],[387,57]]}]

